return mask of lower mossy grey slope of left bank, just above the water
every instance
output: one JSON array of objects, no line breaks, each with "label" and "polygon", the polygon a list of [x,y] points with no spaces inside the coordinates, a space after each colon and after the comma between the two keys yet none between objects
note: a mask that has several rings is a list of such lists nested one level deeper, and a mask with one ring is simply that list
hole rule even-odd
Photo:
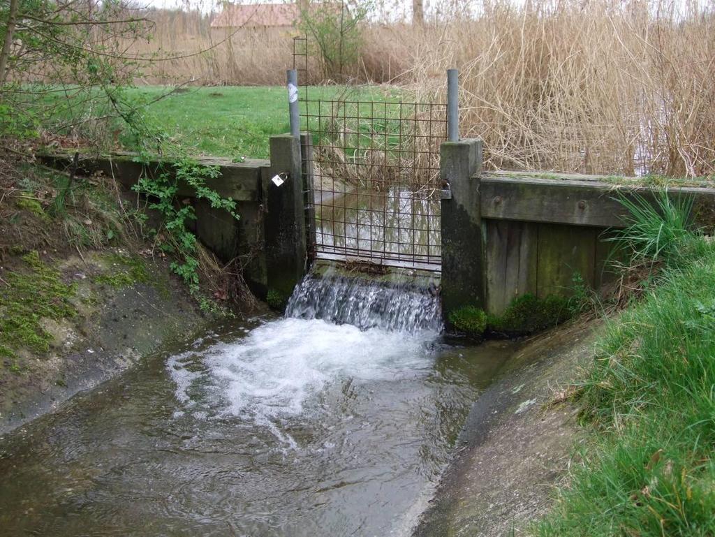
[{"label": "lower mossy grey slope of left bank, just above the water", "polygon": [[[2,306],[10,312],[6,319],[30,327],[32,339],[18,341],[4,356],[0,433],[57,408],[165,345],[190,338],[207,322],[162,262],[121,249],[22,259],[4,262],[1,274],[15,285],[7,287]],[[24,287],[11,280],[18,275]],[[42,300],[63,309],[54,315],[56,308],[32,305]],[[28,303],[36,313],[27,314]]]}]

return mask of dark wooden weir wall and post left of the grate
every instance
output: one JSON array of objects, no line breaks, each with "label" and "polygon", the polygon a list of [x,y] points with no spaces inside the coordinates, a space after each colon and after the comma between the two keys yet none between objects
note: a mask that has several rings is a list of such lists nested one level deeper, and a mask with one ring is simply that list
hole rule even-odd
[{"label": "dark wooden weir wall and post left of the grate", "polygon": [[[307,144],[290,134],[270,138],[270,160],[198,158],[199,164],[216,166],[220,174],[207,180],[207,187],[222,197],[233,199],[240,220],[225,210],[211,207],[196,197],[188,184],[180,184],[178,195],[187,199],[196,212],[191,222],[199,240],[220,260],[240,258],[245,279],[256,295],[269,292],[285,302],[307,270],[304,192],[307,174],[302,171],[300,145]],[[308,149],[310,147],[308,146]],[[309,152],[304,149],[305,154]],[[133,154],[79,159],[75,168],[67,154],[44,155],[42,162],[74,173],[100,172],[125,187],[132,187],[142,174],[173,173],[174,164],[156,159],[136,162]],[[274,177],[280,180],[274,182]]]}]

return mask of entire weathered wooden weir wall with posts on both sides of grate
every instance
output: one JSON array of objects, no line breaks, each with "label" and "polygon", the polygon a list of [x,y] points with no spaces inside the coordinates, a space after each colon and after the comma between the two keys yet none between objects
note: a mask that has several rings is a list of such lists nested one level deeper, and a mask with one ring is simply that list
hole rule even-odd
[{"label": "entire weathered wooden weir wall with posts on both sides of grate", "polygon": [[[67,155],[42,159],[55,167],[74,166]],[[220,168],[207,186],[237,202],[240,220],[197,199],[189,185],[179,184],[179,196],[196,210],[197,237],[222,260],[239,257],[255,294],[264,299],[271,295],[272,304],[285,305],[315,257],[309,137],[271,137],[270,160],[198,161]],[[119,154],[80,159],[74,171],[101,171],[131,187],[142,174],[172,172],[172,163],[157,159],[139,164],[132,155]],[[615,243],[608,238],[627,217],[618,197],[638,194],[655,201],[653,189],[623,186],[616,178],[486,172],[480,139],[444,142],[440,175],[442,265],[435,281],[440,281],[445,319],[464,306],[501,315],[526,294],[538,299],[568,296],[575,275],[584,285],[600,289],[614,277],[608,260]],[[692,197],[696,224],[712,227],[715,189],[674,188],[669,195]]]}]

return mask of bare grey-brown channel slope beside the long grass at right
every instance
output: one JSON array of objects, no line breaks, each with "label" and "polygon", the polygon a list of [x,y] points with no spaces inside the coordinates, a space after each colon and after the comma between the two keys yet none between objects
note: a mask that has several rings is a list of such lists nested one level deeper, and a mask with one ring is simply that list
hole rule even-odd
[{"label": "bare grey-brown channel slope beside the long grass at right", "polygon": [[550,506],[583,440],[563,385],[591,358],[598,323],[525,343],[473,405],[458,454],[415,537],[521,535]]}]

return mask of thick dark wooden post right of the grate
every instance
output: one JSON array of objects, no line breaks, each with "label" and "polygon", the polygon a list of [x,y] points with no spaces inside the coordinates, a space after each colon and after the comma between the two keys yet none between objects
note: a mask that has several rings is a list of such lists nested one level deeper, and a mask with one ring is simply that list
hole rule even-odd
[{"label": "thick dark wooden post right of the grate", "polygon": [[[442,309],[485,307],[484,239],[479,201],[482,141],[465,139],[440,147],[440,174],[451,191],[442,199]],[[446,185],[445,185],[446,186]]]}]

